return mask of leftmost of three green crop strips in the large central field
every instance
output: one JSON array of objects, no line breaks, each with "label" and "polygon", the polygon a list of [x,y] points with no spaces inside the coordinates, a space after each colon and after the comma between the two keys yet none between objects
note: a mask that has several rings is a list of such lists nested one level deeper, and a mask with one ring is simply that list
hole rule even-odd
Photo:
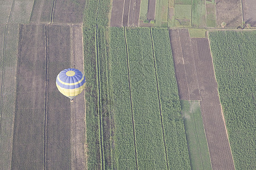
[{"label": "leftmost of three green crop strips in the large central field", "polygon": [[[134,125],[124,28],[110,28],[110,69],[113,87],[114,169],[137,169]],[[121,94],[121,95],[120,95]]]}]

